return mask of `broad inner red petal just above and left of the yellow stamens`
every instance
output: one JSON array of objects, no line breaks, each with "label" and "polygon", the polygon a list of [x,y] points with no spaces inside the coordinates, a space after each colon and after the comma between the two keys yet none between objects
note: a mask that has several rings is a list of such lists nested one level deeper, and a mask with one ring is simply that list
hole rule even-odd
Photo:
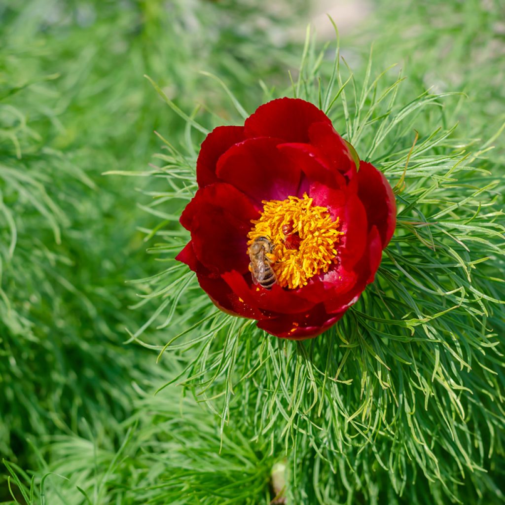
[{"label": "broad inner red petal just above and left of the yellow stamens", "polygon": [[262,200],[296,194],[300,169],[283,156],[274,138],[251,138],[230,147],[217,165],[220,179],[233,184],[263,208]]}]

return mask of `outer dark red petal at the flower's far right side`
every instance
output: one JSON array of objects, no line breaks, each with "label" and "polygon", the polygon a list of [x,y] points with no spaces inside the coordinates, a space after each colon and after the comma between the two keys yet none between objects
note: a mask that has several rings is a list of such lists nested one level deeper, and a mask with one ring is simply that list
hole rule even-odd
[{"label": "outer dark red petal at the flower's far right side", "polygon": [[384,174],[372,164],[361,162],[358,172],[358,196],[368,216],[368,226],[377,226],[384,248],[396,226],[396,202]]}]

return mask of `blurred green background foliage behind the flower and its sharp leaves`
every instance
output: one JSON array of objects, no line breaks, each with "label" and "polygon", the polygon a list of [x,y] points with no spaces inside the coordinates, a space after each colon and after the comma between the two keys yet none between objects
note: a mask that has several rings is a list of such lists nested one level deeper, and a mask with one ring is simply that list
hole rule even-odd
[{"label": "blurred green background foliage behind the flower and its sharp leaves", "polygon": [[156,307],[137,304],[143,286],[126,281],[158,272],[142,232],[158,218],[141,204],[164,181],[103,173],[148,170],[155,130],[184,138],[144,74],[187,113],[233,120],[226,93],[199,72],[251,112],[265,90],[289,87],[309,21],[321,45],[333,40],[325,13],[358,73],[373,43],[374,66],[398,63],[411,95],[465,92],[460,134],[494,137],[503,170],[499,0],[0,3],[0,455],[10,462],[0,502],[224,503],[208,489],[226,486],[236,503],[269,502],[268,451],[235,420],[217,456],[212,414],[175,389],[153,397],[180,364],[123,344]]}]

